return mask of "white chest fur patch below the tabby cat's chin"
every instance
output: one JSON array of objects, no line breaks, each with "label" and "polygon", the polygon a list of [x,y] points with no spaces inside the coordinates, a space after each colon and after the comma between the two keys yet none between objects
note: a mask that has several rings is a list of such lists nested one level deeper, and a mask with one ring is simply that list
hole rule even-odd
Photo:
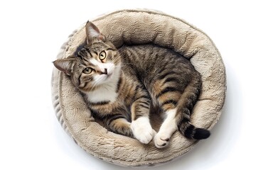
[{"label": "white chest fur patch below the tabby cat's chin", "polygon": [[87,92],[87,99],[92,103],[97,103],[101,101],[114,102],[117,98],[116,88],[117,84],[104,84],[95,91]]}]

